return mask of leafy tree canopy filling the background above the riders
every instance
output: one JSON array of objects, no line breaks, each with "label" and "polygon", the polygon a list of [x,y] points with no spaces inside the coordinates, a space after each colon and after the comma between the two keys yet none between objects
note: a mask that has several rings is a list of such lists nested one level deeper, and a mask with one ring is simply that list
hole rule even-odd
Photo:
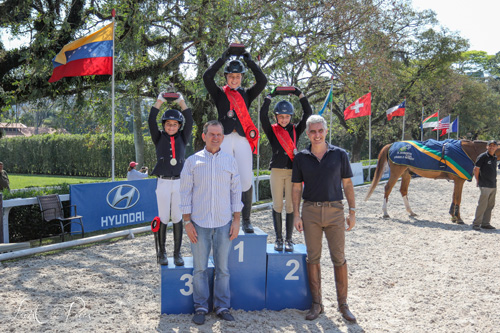
[{"label": "leafy tree canopy filling the background above the riders", "polygon": [[[406,128],[414,139],[420,138],[422,107],[460,114],[473,138],[484,135],[478,129],[500,134],[492,126],[500,114],[494,84],[500,56],[466,52],[466,40],[409,0],[5,0],[0,27],[28,42],[9,50],[0,45],[0,117],[13,117],[14,105],[50,104],[47,117],[70,132],[109,128],[109,76],[48,79],[52,58],[65,44],[109,23],[112,8],[121,130],[128,130],[126,115],[141,119],[167,86],[183,93],[196,124],[215,118],[202,75],[238,40],[261,59],[270,88],[283,82],[299,86],[318,110],[333,86],[332,141],[352,149],[354,160],[367,145],[368,121],[345,121],[343,110],[370,89],[379,146],[401,138],[400,122],[387,122],[385,111],[404,98]],[[491,79],[472,75],[477,72]],[[244,84],[252,80],[246,76]],[[254,116],[259,107],[252,105]],[[491,117],[495,122],[488,121]],[[198,131],[195,145],[201,144]]]}]

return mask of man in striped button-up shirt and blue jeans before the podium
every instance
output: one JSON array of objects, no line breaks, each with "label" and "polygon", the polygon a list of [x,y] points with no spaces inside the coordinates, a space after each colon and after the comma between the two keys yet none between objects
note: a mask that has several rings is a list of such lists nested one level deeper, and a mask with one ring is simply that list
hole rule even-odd
[{"label": "man in striped button-up shirt and blue jeans before the podium", "polygon": [[193,253],[193,322],[205,323],[210,289],[208,256],[215,264],[214,311],[227,321],[229,312],[229,250],[240,229],[241,184],[233,156],[220,150],[224,129],[217,120],[203,126],[205,148],[190,156],[181,172],[181,211]]}]

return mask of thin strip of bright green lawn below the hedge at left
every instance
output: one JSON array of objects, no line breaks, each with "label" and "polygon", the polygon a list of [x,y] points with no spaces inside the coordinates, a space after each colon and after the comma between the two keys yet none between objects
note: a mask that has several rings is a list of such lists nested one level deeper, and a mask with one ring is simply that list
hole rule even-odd
[{"label": "thin strip of bright green lawn below the hedge at left", "polygon": [[[57,176],[57,175],[24,175],[24,174],[9,174],[10,189],[22,189],[27,187],[44,187],[55,186],[61,184],[81,184],[81,183],[98,183],[111,181],[110,178],[104,177],[76,177],[76,176]],[[115,178],[115,180],[124,180]]]}]

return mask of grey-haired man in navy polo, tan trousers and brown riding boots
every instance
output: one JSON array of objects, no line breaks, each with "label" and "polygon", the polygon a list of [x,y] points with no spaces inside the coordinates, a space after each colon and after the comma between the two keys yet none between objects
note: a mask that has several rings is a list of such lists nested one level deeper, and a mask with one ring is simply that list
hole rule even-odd
[{"label": "grey-haired man in navy polo, tan trousers and brown riding boots", "polygon": [[[345,150],[325,142],[327,126],[323,117],[309,117],[306,133],[311,145],[295,156],[292,172],[294,224],[299,232],[304,231],[307,275],[312,295],[312,305],[306,319],[314,320],[323,313],[320,258],[324,232],[334,265],[338,309],[344,319],[355,322],[356,317],[347,305],[347,263],[344,255],[346,219],[342,203],[344,193],[349,205],[349,231],[356,224],[351,165]],[[302,216],[299,210],[301,195],[304,199]]]}]

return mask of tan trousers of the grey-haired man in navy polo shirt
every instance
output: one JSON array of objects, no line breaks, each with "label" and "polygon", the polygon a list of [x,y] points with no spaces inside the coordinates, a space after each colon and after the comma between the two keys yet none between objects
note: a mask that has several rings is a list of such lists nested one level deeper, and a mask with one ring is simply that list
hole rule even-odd
[{"label": "tan trousers of the grey-haired man in navy polo shirt", "polygon": [[320,263],[324,232],[333,264],[343,265],[345,263],[345,217],[342,201],[332,201],[328,206],[316,206],[313,202],[304,201],[302,222],[307,247],[307,262]]}]

